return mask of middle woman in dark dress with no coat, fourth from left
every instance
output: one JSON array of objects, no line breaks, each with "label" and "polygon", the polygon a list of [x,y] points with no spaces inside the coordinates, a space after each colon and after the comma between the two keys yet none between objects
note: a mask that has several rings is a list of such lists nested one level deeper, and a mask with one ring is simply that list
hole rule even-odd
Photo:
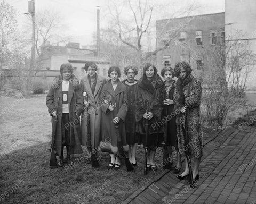
[{"label": "middle woman in dark dress with no coat, fourth from left", "polygon": [[124,68],[124,74],[127,76],[127,79],[122,81],[122,83],[126,86],[128,100],[128,111],[125,118],[125,132],[127,144],[129,145],[128,157],[130,163],[133,166],[136,166],[136,150],[138,144],[138,135],[135,132],[135,95],[138,91],[138,84],[137,80],[135,80],[135,75],[138,74],[138,68],[136,66],[126,66]]}]

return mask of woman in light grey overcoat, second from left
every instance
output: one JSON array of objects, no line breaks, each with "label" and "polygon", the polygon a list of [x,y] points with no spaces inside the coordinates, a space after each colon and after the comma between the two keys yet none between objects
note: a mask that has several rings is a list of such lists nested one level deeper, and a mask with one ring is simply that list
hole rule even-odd
[{"label": "woman in light grey overcoat, second from left", "polygon": [[88,73],[83,79],[81,79],[80,85],[82,92],[86,92],[88,96],[88,103],[84,99],[84,111],[81,116],[81,145],[87,144],[87,109],[90,115],[90,128],[91,128],[91,146],[92,149],[97,150],[101,141],[101,115],[99,101],[100,94],[104,84],[107,80],[98,75],[97,65],[93,62],[88,62],[84,66],[84,70]]}]

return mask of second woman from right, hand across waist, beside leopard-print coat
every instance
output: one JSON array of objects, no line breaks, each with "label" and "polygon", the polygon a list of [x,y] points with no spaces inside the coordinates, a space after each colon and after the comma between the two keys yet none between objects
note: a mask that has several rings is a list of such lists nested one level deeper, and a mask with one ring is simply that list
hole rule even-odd
[{"label": "second woman from right, hand across waist, beside leopard-print coat", "polygon": [[[172,79],[174,77],[174,70],[171,67],[165,67],[161,71],[162,77],[165,81],[162,86],[164,94],[164,141],[166,141],[167,149],[169,151],[169,157],[172,158],[172,146],[175,147],[176,151],[179,152],[178,141],[177,141],[177,128],[176,128],[176,116],[174,112],[173,104],[173,94],[175,88],[175,81]],[[166,137],[166,138],[165,138]],[[171,169],[173,162],[168,163],[163,168]],[[181,155],[178,155],[177,164],[174,167],[174,173],[179,173],[181,168]]]}]

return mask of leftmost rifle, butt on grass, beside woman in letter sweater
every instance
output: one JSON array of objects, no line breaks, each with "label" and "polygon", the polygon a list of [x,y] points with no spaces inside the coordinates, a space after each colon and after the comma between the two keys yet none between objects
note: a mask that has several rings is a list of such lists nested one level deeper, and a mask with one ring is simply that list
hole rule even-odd
[{"label": "leftmost rifle, butt on grass, beside woman in letter sweater", "polygon": [[51,169],[52,168],[58,168],[57,159],[56,159],[56,151],[54,150],[54,142],[55,142],[55,134],[56,134],[57,123],[58,123],[59,100],[60,100],[60,97],[58,98],[58,102],[57,102],[56,116],[53,116],[54,120],[53,120],[53,125],[52,125],[52,144],[51,144],[51,148],[49,150],[51,152],[49,168],[51,168]]}]

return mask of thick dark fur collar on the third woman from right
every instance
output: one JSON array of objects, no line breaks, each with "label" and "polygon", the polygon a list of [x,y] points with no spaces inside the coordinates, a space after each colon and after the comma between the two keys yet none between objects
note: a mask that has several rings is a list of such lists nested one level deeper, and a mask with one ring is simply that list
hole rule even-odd
[{"label": "thick dark fur collar on the third woman from right", "polygon": [[158,74],[155,74],[150,81],[147,79],[146,74],[143,74],[142,78],[138,80],[138,86],[140,88],[151,92],[154,92],[154,89],[162,87],[163,83],[163,80]]}]

